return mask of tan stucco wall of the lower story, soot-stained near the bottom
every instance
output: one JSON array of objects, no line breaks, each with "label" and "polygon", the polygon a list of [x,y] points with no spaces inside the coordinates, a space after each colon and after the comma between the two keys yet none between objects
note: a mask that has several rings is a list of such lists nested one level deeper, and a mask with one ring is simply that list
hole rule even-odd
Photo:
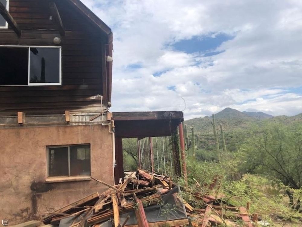
[{"label": "tan stucco wall of the lower story, soot-stained near the bottom", "polygon": [[92,177],[113,184],[112,137],[108,126],[0,129],[0,221],[8,219],[12,225],[28,219],[41,219],[44,212],[107,189],[90,180],[47,184],[53,188],[47,192],[31,190],[32,183],[45,183],[46,146],[84,143],[91,145]]}]

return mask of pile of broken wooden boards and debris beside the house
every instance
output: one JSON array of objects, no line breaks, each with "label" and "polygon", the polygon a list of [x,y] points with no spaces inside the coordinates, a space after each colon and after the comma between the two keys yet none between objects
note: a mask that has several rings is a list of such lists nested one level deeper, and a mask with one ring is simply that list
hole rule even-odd
[{"label": "pile of broken wooden boards and debris beside the house", "polygon": [[182,199],[171,177],[140,169],[133,174],[115,186],[92,178],[109,189],[49,212],[43,223],[59,227],[239,226],[236,221],[240,220],[241,225],[252,226],[252,215],[244,207],[200,193],[193,196],[202,205],[193,207]]}]

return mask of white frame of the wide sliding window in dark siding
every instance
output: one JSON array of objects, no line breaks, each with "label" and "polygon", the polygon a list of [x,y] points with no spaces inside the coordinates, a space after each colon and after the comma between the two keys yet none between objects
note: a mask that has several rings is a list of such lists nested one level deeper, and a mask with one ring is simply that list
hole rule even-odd
[{"label": "white frame of the wide sliding window in dark siding", "polygon": [[[0,85],[3,86],[56,86],[62,85],[62,46],[28,46],[28,45],[0,45],[1,47],[26,47],[28,49],[28,72],[27,72],[27,85]],[[57,48],[59,49],[59,82],[58,83],[30,83],[30,64],[31,64],[31,48]]]}]

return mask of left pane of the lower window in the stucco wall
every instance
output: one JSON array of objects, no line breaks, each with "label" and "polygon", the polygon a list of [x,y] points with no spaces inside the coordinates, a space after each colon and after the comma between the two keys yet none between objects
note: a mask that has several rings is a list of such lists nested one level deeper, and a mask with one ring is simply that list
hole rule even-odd
[{"label": "left pane of the lower window in the stucco wall", "polygon": [[49,148],[48,175],[68,176],[68,147]]}]

